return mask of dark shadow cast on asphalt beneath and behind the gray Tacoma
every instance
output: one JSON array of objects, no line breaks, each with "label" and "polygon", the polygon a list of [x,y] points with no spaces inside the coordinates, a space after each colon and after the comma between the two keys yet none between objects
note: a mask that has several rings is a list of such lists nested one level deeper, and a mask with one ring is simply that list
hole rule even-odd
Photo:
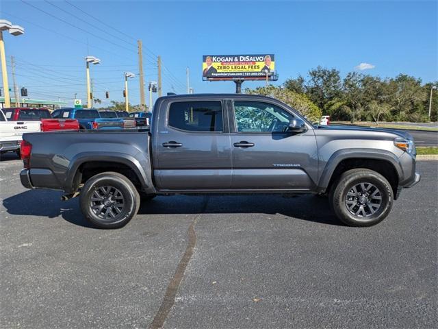
[{"label": "dark shadow cast on asphalt beneath and behind the gray Tacoma", "polygon": [[[7,199],[3,206],[11,215],[62,217],[77,226],[92,228],[79,209],[79,199],[61,201],[62,193],[49,190],[29,190]],[[133,220],[142,220],[144,215],[187,215],[187,214],[260,214],[283,215],[291,221],[302,219],[315,223],[344,226],[329,208],[326,198],[313,195],[283,197],[281,195],[175,195],[156,197],[144,201],[138,216]],[[239,219],[236,219],[239,220]],[[266,216],[266,220],[272,220]]]}]

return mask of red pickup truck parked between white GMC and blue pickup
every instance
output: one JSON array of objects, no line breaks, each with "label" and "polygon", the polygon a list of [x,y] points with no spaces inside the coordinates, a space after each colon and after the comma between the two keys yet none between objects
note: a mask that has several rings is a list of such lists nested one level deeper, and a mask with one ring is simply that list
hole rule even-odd
[{"label": "red pickup truck parked between white GMC and blue pickup", "polygon": [[42,132],[53,130],[79,130],[76,119],[52,119],[47,108],[3,108],[8,121],[40,121]]}]

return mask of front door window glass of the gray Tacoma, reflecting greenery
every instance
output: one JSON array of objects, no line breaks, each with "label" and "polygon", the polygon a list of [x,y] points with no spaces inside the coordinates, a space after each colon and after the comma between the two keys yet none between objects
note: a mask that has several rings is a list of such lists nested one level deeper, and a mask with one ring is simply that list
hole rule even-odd
[{"label": "front door window glass of the gray Tacoma, reflecting greenery", "polygon": [[293,114],[274,104],[261,101],[235,101],[237,132],[287,132]]}]

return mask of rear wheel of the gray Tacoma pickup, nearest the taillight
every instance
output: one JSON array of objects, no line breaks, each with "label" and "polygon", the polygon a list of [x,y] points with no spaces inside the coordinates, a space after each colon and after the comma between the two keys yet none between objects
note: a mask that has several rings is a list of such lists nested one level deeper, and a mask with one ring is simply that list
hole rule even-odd
[{"label": "rear wheel of the gray Tacoma pickup, nearest the taillight", "polygon": [[137,214],[140,195],[124,175],[107,171],[87,180],[81,189],[79,204],[92,226],[122,228]]}]

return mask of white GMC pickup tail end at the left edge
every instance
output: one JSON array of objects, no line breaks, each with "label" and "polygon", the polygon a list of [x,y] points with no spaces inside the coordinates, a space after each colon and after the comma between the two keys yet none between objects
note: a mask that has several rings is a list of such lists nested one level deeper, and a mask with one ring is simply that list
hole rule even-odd
[{"label": "white GMC pickup tail end at the left edge", "polygon": [[23,132],[39,132],[38,121],[8,121],[0,110],[0,154],[7,151],[20,153]]}]

